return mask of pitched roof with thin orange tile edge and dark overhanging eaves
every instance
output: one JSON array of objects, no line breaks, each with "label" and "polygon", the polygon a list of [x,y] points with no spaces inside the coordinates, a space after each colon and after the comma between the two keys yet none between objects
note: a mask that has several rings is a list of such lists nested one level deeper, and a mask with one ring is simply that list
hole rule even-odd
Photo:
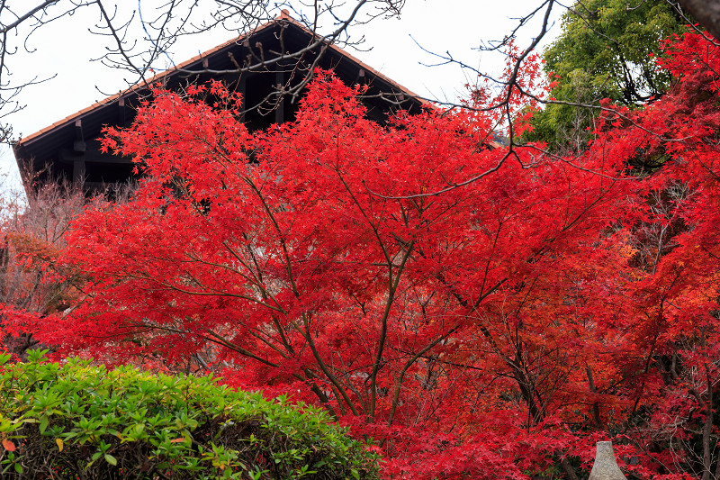
[{"label": "pitched roof with thin orange tile edge and dark overhanging eaves", "polygon": [[[279,37],[284,41],[279,42]],[[252,42],[251,42],[252,41]],[[250,44],[252,43],[252,45]],[[87,140],[94,140],[100,136],[103,125],[121,125],[134,117],[131,105],[139,103],[139,99],[148,95],[148,86],[163,83],[169,88],[179,87],[183,82],[197,81],[206,82],[211,78],[223,78],[237,80],[239,77],[238,61],[243,55],[249,59],[253,49],[257,45],[265,45],[267,51],[273,51],[274,56],[268,57],[265,63],[255,63],[250,72],[243,75],[247,78],[262,77],[262,88],[270,89],[268,84],[266,64],[280,65],[285,60],[288,62],[296,58],[298,51],[307,58],[320,58],[319,66],[332,68],[338,77],[347,84],[363,81],[369,86],[369,94],[365,99],[371,118],[382,120],[392,108],[401,108],[410,111],[419,111],[427,102],[419,99],[407,88],[385,77],[382,73],[366,65],[347,51],[329,44],[323,37],[311,32],[302,23],[294,20],[287,11],[275,18],[275,20],[258,26],[251,32],[243,33],[238,37],[226,41],[217,47],[202,52],[200,55],[188,59],[183,63],[161,72],[154,77],[148,78],[142,84],[132,86],[128,90],[117,95],[111,95],[100,102],[92,104],[79,112],[68,115],[66,118],[54,122],[40,131],[23,137],[14,145],[15,158],[21,173],[28,171],[38,172],[46,166],[55,168],[56,172],[51,177],[58,177],[63,168],[66,174],[68,170],[67,151],[72,155],[85,154],[85,143]],[[284,50],[283,50],[284,49]],[[280,52],[278,54],[278,52]],[[265,59],[265,57],[263,57]],[[244,60],[240,60],[244,61]],[[269,68],[266,68],[269,70]],[[234,77],[233,77],[234,74]],[[259,81],[256,81],[258,84]],[[249,87],[248,87],[249,92]],[[390,102],[388,102],[390,100]],[[82,145],[78,146],[77,142]],[[75,145],[75,147],[74,147]],[[87,144],[89,145],[89,143]],[[94,148],[94,146],[91,146]],[[66,152],[63,156],[63,151]],[[107,165],[114,163],[114,160],[101,159]],[[117,165],[115,165],[117,167]],[[110,168],[110,167],[103,167]],[[67,175],[66,175],[67,177]],[[108,178],[111,178],[109,175]],[[23,181],[27,183],[23,175]],[[108,180],[112,181],[112,180]],[[27,185],[26,185],[27,186]]]}]

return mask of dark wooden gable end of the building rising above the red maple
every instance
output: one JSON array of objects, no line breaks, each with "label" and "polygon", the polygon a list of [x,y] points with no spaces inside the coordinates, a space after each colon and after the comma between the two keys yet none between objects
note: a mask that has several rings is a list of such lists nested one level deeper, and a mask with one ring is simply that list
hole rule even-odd
[{"label": "dark wooden gable end of the building rising above the red maple", "polygon": [[130,158],[101,152],[97,139],[103,126],[130,126],[135,107],[149,95],[148,85],[157,82],[170,89],[211,79],[225,82],[243,94],[247,104],[244,121],[251,130],[293,120],[297,102],[278,92],[300,86],[314,67],[333,69],[347,85],[367,85],[363,101],[373,120],[383,122],[397,109],[420,111],[423,102],[416,95],[346,51],[319,40],[284,13],[253,32],[149,79],[143,86],[70,115],[14,145],[23,184],[29,188],[31,182],[64,179],[82,183],[86,191],[92,192],[132,178]]}]

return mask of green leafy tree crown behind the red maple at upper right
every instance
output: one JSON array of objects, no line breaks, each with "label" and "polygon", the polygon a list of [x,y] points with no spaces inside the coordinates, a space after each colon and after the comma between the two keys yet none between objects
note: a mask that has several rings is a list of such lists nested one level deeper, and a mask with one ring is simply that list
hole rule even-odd
[{"label": "green leafy tree crown behind the red maple at upper right", "polygon": [[[545,71],[554,75],[551,96],[573,104],[609,98],[635,106],[662,95],[670,82],[654,56],[660,42],[686,29],[686,18],[663,0],[578,0],[563,15],[563,32],[545,50]],[[584,149],[597,111],[548,104],[524,140],[551,149]]]}]

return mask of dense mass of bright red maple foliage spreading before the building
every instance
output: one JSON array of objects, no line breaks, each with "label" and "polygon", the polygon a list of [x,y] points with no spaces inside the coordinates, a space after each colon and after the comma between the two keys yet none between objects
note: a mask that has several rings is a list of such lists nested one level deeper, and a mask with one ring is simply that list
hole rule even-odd
[{"label": "dense mass of bright red maple foliage spreading before the building", "polygon": [[220,84],[157,90],[108,131],[147,179],[76,222],[85,301],[45,340],[318,403],[392,478],[572,477],[608,438],[629,475],[710,478],[720,52],[666,48],[671,92],[574,158],[488,148],[482,110],[370,122],[327,73],[260,133]]}]

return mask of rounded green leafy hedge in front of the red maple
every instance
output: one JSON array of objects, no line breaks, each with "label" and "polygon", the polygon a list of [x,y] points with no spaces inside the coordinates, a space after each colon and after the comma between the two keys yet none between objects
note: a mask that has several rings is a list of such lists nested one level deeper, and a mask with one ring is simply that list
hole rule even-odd
[{"label": "rounded green leafy hedge in front of the red maple", "polygon": [[2,478],[377,478],[325,412],[211,377],[0,356]]}]

